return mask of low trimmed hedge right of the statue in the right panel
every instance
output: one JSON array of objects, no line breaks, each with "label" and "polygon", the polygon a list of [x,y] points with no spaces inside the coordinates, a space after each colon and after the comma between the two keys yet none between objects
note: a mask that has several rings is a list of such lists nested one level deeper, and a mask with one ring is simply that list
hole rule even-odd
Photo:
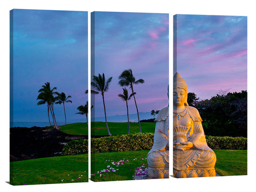
[{"label": "low trimmed hedge right of the statue in the right panel", "polygon": [[247,138],[243,137],[214,137],[205,136],[207,145],[211,149],[246,150]]}]

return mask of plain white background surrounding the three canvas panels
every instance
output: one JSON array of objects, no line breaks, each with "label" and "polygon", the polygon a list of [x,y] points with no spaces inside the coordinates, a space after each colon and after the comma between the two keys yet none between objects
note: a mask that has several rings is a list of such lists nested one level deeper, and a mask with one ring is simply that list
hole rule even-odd
[{"label": "plain white background surrounding the three canvas panels", "polygon": [[[2,191],[255,191],[255,4],[253,1],[2,1],[1,2],[1,169]],[[35,186],[11,186],[9,181],[9,11],[12,9],[70,10],[70,11],[118,11],[170,14],[170,74],[172,73],[172,36],[174,14],[240,15],[248,18],[248,175],[215,178],[155,179],[142,181],[68,183]],[[90,26],[90,22],[89,22]],[[89,70],[90,71],[90,70]],[[90,77],[89,77],[90,79]],[[170,75],[170,82],[172,77]],[[171,89],[171,87],[170,87]],[[172,96],[172,94],[170,95]],[[171,100],[171,98],[170,98]],[[172,123],[172,122],[171,122]],[[253,185],[254,184],[254,185]]]}]

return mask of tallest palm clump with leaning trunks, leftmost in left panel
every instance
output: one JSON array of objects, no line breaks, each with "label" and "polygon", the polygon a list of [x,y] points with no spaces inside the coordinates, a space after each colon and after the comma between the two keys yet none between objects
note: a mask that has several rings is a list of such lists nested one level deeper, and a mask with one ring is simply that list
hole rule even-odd
[{"label": "tallest palm clump with leaning trunks, leftmost in left panel", "polygon": [[43,104],[47,103],[49,122],[51,124],[50,116],[49,116],[49,109],[50,109],[55,129],[59,130],[59,126],[56,122],[55,114],[54,114],[54,110],[53,110],[53,103],[56,100],[56,98],[54,97],[54,94],[57,94],[57,92],[54,92],[54,90],[56,90],[56,89],[57,89],[56,87],[53,87],[53,89],[51,89],[49,82],[45,83],[42,86],[42,88],[38,91],[39,94],[38,94],[37,100],[40,100],[40,101],[37,102],[37,105],[43,105]]}]

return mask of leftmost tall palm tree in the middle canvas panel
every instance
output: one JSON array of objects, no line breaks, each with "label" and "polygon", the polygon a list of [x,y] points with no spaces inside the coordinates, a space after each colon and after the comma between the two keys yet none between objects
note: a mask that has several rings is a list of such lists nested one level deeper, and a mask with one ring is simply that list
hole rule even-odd
[{"label": "leftmost tall palm tree in the middle canvas panel", "polygon": [[103,106],[104,106],[104,113],[105,113],[105,121],[106,121],[106,126],[108,130],[108,135],[111,136],[111,133],[109,132],[108,129],[108,122],[107,122],[107,115],[106,115],[106,106],[105,106],[105,100],[104,100],[104,93],[108,91],[109,89],[109,84],[112,80],[112,77],[108,78],[107,81],[105,79],[104,73],[102,75],[99,74],[99,76],[92,76],[92,82],[91,85],[94,87],[94,90],[91,90],[91,93],[93,94],[101,94],[102,95],[102,100],[103,100]]}]

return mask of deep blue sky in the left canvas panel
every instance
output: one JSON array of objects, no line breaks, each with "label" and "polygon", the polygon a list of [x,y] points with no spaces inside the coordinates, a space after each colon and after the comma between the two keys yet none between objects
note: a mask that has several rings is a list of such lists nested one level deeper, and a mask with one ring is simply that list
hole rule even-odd
[{"label": "deep blue sky in the left canvas panel", "polygon": [[[88,100],[87,22],[85,11],[13,10],[14,122],[48,121],[47,105],[36,100],[46,82],[71,95],[67,121],[85,118],[75,113]],[[65,122],[63,105],[54,105],[54,113]]]}]

